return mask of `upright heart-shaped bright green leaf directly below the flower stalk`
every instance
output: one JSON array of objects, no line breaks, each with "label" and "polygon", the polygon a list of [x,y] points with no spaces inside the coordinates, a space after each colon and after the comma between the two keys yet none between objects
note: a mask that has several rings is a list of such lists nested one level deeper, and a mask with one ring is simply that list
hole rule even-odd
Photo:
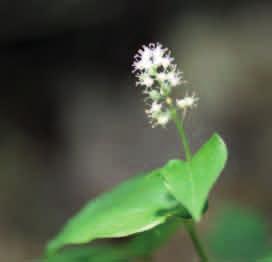
[{"label": "upright heart-shaped bright green leaf directly below the flower stalk", "polygon": [[169,192],[197,221],[226,160],[226,145],[220,136],[215,134],[190,162],[171,160],[161,169]]}]

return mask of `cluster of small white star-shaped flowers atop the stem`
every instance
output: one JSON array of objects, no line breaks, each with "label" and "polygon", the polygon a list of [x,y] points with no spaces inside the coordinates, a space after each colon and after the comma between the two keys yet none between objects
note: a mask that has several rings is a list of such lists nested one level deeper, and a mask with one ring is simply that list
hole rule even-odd
[{"label": "cluster of small white star-shaped flowers atop the stem", "polygon": [[171,120],[173,110],[183,110],[196,106],[198,98],[195,94],[185,95],[173,103],[172,91],[175,87],[184,84],[183,73],[173,63],[170,51],[159,43],[143,46],[134,56],[133,73],[137,77],[136,85],[143,86],[148,105],[146,114],[152,127],[163,126]]}]

